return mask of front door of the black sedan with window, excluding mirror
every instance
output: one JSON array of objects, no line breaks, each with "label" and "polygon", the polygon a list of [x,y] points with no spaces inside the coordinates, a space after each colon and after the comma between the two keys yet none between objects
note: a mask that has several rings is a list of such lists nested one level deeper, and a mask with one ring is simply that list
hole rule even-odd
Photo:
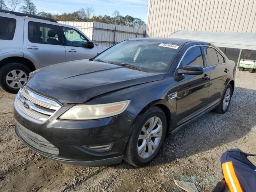
[{"label": "front door of the black sedan with window, excluding mirror", "polygon": [[[179,69],[185,65],[199,65],[204,68],[204,59],[200,46],[189,48]],[[210,70],[204,68],[202,75],[178,75],[176,125],[179,126],[194,118],[206,107],[209,86]]]}]

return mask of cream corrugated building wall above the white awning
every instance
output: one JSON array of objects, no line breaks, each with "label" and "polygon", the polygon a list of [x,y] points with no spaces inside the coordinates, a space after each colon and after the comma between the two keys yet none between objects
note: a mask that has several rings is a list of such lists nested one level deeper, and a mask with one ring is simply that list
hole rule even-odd
[{"label": "cream corrugated building wall above the white awning", "polygon": [[256,32],[256,0],[148,0],[147,36],[178,30]]}]

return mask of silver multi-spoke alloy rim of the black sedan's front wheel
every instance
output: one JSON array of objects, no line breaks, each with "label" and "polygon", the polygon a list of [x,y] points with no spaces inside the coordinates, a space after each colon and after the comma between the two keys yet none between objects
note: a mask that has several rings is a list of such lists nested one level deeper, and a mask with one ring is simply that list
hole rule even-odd
[{"label": "silver multi-spoke alloy rim of the black sedan's front wheel", "polygon": [[150,118],[144,124],[137,143],[140,158],[146,159],[154,154],[162,138],[162,130],[162,121],[156,116]]}]

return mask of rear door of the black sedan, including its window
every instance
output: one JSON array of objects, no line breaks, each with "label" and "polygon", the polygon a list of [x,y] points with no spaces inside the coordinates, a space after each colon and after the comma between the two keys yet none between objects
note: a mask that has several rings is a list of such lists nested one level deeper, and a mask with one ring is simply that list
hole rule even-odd
[{"label": "rear door of the black sedan, including its window", "polygon": [[228,80],[228,65],[225,58],[213,47],[204,46],[207,68],[211,72],[211,86],[207,105],[220,101]]}]

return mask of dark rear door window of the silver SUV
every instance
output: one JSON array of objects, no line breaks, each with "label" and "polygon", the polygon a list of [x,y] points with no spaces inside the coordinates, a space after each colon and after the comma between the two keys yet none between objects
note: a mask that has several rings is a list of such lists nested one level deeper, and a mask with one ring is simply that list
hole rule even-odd
[{"label": "dark rear door window of the silver SUV", "polygon": [[38,22],[28,22],[28,40],[32,43],[61,45],[58,26]]}]

